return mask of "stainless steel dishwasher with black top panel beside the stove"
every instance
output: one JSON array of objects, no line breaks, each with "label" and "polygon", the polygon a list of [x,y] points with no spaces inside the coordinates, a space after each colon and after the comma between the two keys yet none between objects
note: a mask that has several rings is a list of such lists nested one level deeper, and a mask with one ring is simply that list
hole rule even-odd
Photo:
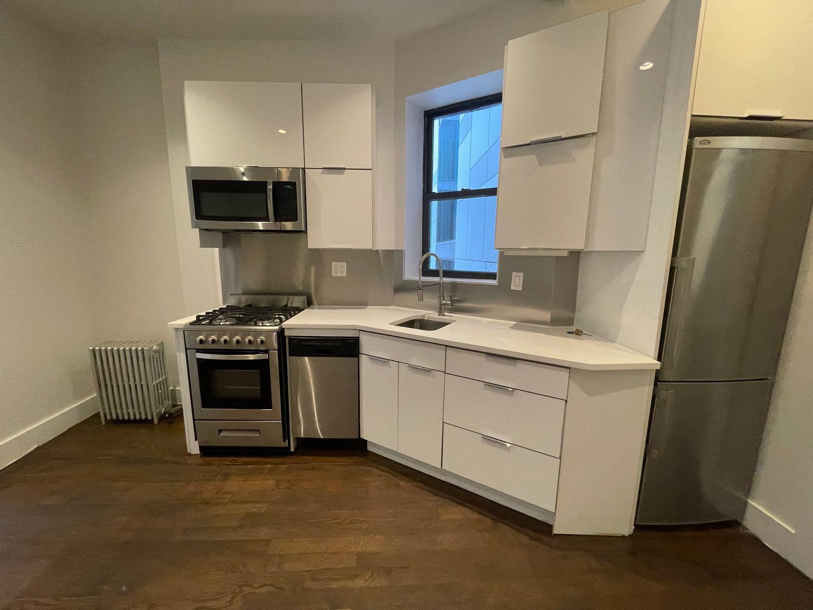
[{"label": "stainless steel dishwasher with black top panel beside the stove", "polygon": [[292,438],[359,438],[359,338],[289,337]]}]

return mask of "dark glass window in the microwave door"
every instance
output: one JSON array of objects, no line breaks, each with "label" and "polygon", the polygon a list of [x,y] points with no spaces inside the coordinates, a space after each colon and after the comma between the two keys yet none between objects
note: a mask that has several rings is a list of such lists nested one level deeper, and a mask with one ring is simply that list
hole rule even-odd
[{"label": "dark glass window in the microwave door", "polygon": [[268,222],[268,183],[257,180],[193,180],[198,220]]}]

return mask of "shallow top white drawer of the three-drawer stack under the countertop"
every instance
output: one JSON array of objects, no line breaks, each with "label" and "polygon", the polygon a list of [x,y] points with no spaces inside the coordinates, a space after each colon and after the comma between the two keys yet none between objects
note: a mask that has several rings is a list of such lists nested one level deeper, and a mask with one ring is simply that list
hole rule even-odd
[{"label": "shallow top white drawer of the three-drawer stack under the countertop", "polygon": [[554,399],[567,399],[567,379],[570,377],[569,368],[455,347],[446,350],[446,373],[545,394]]}]

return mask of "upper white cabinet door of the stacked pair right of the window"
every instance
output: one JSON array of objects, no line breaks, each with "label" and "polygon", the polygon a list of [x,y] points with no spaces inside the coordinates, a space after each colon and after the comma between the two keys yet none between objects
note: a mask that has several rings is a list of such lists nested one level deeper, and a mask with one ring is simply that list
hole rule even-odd
[{"label": "upper white cabinet door of the stacked pair right of the window", "polygon": [[598,130],[607,20],[598,11],[508,42],[503,148]]}]

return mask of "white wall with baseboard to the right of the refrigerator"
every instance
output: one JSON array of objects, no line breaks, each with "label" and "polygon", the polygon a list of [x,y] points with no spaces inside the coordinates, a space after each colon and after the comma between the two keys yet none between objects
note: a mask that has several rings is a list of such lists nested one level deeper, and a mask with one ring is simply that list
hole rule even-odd
[{"label": "white wall with baseboard to the right of the refrigerator", "polygon": [[745,525],[813,578],[813,220]]}]

